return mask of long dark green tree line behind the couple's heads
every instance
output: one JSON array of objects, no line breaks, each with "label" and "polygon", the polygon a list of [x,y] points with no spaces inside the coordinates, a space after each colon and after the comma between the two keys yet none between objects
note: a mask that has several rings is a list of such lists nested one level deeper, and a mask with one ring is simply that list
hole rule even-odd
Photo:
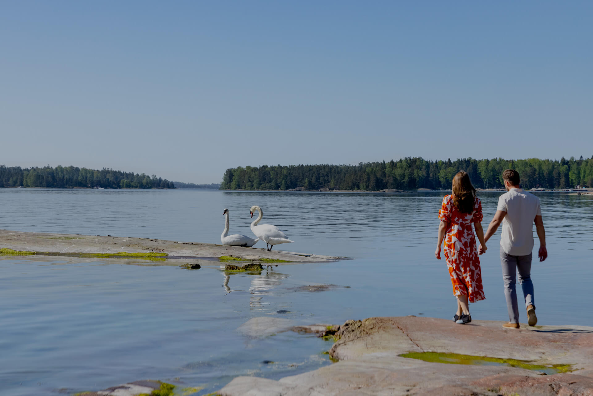
[{"label": "long dark green tree line behind the couple's heads", "polygon": [[502,188],[502,171],[505,169],[517,170],[521,175],[521,186],[527,189],[593,187],[593,156],[590,159],[581,156],[578,160],[562,157],[560,160],[465,158],[455,161],[407,157],[358,165],[246,166],[227,169],[221,189],[450,189],[453,176],[460,170],[469,174],[476,188]]}]

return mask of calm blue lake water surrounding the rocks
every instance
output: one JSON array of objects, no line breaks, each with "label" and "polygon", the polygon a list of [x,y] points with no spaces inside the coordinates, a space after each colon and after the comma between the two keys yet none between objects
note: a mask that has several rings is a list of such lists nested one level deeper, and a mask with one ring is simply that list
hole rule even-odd
[{"label": "calm blue lake water surrounding the rocks", "polygon": [[[480,194],[484,229],[500,194]],[[353,258],[260,275],[138,259],[1,259],[0,394],[160,379],[202,387],[202,395],[237,375],[282,378],[331,364],[323,354],[331,342],[237,330],[253,318],[281,327],[370,316],[449,319],[456,304],[447,266],[433,256],[443,195],[0,189],[1,229],[219,243],[224,208],[231,233],[250,235],[249,208],[260,205],[263,222],[297,242],[278,249]],[[593,326],[593,199],[538,196],[549,251],[532,270],[539,324]],[[471,305],[474,319],[508,320],[499,236],[480,256],[486,300]],[[299,289],[318,284],[336,286]]]}]

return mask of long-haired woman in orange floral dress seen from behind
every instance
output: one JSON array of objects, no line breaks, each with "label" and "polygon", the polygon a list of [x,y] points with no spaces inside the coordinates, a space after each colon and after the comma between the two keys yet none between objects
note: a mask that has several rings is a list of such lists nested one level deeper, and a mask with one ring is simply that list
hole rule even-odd
[{"label": "long-haired woman in orange floral dress seen from behind", "polygon": [[[439,241],[435,256],[441,259],[441,243],[445,238],[445,259],[453,284],[453,295],[457,297],[457,313],[453,321],[457,324],[471,322],[469,302],[485,299],[482,289],[480,259],[476,249],[476,238],[471,230],[474,224],[482,252],[486,251],[482,229],[482,202],[476,197],[470,176],[459,172],[453,178],[453,191],[445,195],[439,210]],[[480,253],[482,254],[482,253]]]}]

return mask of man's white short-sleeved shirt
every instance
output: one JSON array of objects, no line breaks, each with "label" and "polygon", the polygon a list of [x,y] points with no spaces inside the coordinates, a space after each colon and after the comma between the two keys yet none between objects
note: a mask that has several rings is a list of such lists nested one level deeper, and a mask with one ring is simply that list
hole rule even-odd
[{"label": "man's white short-sleeved shirt", "polygon": [[502,220],[500,247],[506,254],[526,256],[533,251],[533,221],[541,216],[540,199],[522,188],[512,188],[498,198],[496,210],[506,212]]}]

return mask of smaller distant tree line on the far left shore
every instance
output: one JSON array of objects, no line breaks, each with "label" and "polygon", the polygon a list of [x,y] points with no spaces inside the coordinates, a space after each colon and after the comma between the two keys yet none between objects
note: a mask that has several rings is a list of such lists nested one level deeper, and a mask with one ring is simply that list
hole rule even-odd
[{"label": "smaller distant tree line on the far left shore", "polygon": [[0,165],[0,187],[175,188],[173,182],[142,173],[75,166],[21,168]]}]

